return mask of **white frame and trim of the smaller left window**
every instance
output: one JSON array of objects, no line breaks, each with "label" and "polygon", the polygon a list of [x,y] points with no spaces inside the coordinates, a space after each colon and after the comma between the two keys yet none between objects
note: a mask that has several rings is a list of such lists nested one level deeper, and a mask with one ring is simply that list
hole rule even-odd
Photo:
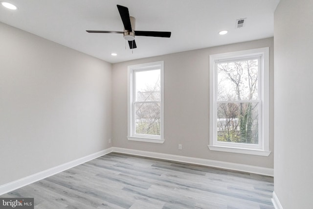
[{"label": "white frame and trim of the smaller left window", "polygon": [[[161,101],[160,101],[160,136],[135,134],[134,122],[134,93],[135,93],[135,71],[146,71],[160,69]],[[164,62],[153,62],[128,66],[128,140],[152,143],[164,143]]]}]

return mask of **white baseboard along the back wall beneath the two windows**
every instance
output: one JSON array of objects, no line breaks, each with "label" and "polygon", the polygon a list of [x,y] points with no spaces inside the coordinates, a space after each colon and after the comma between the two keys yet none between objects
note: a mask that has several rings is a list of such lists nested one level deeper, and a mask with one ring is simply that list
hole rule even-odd
[{"label": "white baseboard along the back wall beneath the two windows", "polygon": [[182,163],[199,164],[199,165],[224,168],[224,169],[229,169],[229,170],[237,170],[237,171],[243,171],[243,172],[248,172],[248,173],[261,174],[265,176],[274,176],[274,169],[266,168],[266,167],[258,167],[258,166],[251,166],[251,165],[238,164],[238,163],[227,163],[227,162],[222,162],[222,161],[213,161],[213,160],[207,160],[207,159],[201,159],[201,158],[192,158],[192,157],[185,157],[185,156],[179,156],[179,155],[148,152],[148,151],[141,151],[141,150],[134,150],[134,149],[125,149],[125,148],[119,148],[119,147],[112,147],[112,152],[150,157],[150,158],[158,158],[158,159],[177,161],[177,162],[182,162]]}]

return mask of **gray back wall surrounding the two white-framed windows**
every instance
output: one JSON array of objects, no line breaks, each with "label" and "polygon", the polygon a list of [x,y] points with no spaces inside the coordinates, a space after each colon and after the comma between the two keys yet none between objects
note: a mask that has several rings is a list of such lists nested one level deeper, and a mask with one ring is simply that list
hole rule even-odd
[{"label": "gray back wall surrounding the two white-framed windows", "polygon": [[[209,55],[269,46],[270,150],[268,157],[210,151]],[[135,52],[134,52],[135,53]],[[163,144],[128,141],[127,66],[164,60]],[[112,65],[113,146],[273,168],[273,38],[186,51]],[[182,144],[182,150],[178,150]]]}]

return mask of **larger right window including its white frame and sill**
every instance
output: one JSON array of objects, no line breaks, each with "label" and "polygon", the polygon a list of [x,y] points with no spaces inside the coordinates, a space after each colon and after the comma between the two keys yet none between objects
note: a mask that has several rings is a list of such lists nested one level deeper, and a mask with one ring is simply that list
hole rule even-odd
[{"label": "larger right window including its white frame and sill", "polygon": [[210,55],[210,150],[270,154],[268,68],[268,47]]}]

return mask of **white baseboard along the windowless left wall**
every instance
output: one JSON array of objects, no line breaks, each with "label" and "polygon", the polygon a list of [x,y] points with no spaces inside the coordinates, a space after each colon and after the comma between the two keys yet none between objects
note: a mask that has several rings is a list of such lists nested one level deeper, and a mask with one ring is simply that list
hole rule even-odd
[{"label": "white baseboard along the windowless left wall", "polygon": [[13,190],[18,189],[18,188],[21,188],[22,186],[26,186],[26,185],[29,185],[31,183],[37,182],[39,180],[45,179],[49,176],[60,173],[62,171],[65,171],[69,168],[80,165],[82,163],[86,163],[86,162],[91,161],[95,158],[109,154],[110,152],[112,152],[112,147],[105,149],[105,150],[102,150],[102,151],[99,151],[99,152],[96,152],[96,153],[93,153],[91,155],[79,158],[79,159],[76,159],[74,161],[49,168],[47,170],[35,173],[33,175],[24,177],[22,179],[14,181],[14,182],[10,182],[10,183],[7,183],[5,185],[1,185],[0,186],[0,195],[8,193],[8,192],[13,191]]}]

